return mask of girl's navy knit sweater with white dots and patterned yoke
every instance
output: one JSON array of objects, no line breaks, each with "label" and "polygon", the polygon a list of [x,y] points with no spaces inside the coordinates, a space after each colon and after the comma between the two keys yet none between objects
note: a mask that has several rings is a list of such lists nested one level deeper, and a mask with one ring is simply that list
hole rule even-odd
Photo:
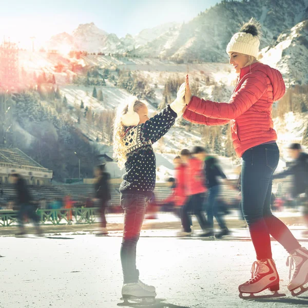
[{"label": "girl's navy knit sweater with white dots and patterned yoke", "polygon": [[120,192],[152,196],[156,184],[156,158],[152,144],[164,136],[175,124],[177,113],[168,105],[144,124],[132,126],[124,137],[126,173]]}]

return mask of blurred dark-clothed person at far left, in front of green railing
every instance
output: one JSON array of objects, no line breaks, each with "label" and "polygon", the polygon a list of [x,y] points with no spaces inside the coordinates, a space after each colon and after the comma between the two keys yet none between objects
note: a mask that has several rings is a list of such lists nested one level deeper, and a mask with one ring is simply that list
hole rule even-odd
[{"label": "blurred dark-clothed person at far left, in front of green railing", "polygon": [[40,217],[36,214],[36,208],[32,204],[32,197],[27,187],[25,179],[19,174],[11,174],[10,178],[16,189],[16,205],[19,207],[18,220],[20,222],[21,232],[17,233],[16,236],[23,236],[26,234],[24,221],[25,216],[30,218],[35,225],[36,234],[42,235],[42,229],[40,227]]}]

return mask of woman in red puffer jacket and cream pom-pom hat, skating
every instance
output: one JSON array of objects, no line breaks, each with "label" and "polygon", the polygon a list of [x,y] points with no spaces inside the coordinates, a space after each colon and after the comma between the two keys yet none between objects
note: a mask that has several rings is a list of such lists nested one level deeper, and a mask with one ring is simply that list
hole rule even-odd
[{"label": "woman in red puffer jacket and cream pom-pom hat, skating", "polygon": [[[308,251],[300,246],[290,230],[270,208],[273,173],[279,161],[277,134],[273,128],[273,102],[282,98],[285,85],[281,73],[256,60],[260,24],[252,18],[234,34],[227,45],[229,63],[238,73],[237,84],[228,103],[191,97],[186,76],[184,118],[204,125],[230,122],[235,151],[242,157],[242,209],[257,254],[252,279],[239,286],[240,293],[259,293],[266,288],[279,290],[279,276],[272,259],[270,235],[290,256],[294,275],[288,284],[292,291],[308,282]],[[289,262],[290,261],[290,262]],[[306,289],[308,290],[308,288]],[[306,291],[301,287],[301,292]],[[300,293],[301,293],[300,292]]]}]

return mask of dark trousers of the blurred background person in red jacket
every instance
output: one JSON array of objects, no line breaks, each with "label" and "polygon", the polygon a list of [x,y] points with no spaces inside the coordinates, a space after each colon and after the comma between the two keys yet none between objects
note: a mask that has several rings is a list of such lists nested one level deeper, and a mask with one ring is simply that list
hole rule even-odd
[{"label": "dark trousers of the blurred background person in red jacket", "polygon": [[207,221],[203,213],[204,194],[191,195],[187,198],[185,205],[182,206],[181,221],[185,232],[191,232],[191,218],[189,213],[194,213],[202,230],[207,227]]}]

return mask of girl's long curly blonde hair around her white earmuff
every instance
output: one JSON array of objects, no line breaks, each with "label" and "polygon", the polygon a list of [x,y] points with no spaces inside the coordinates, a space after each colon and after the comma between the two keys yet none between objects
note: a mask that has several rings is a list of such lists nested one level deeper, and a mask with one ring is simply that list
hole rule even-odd
[{"label": "girl's long curly blonde hair around her white earmuff", "polygon": [[[133,111],[138,112],[143,106],[146,106],[146,104],[141,101],[136,101],[133,105]],[[127,111],[128,103],[121,104],[117,108],[117,113],[115,113],[113,119],[113,158],[118,161],[120,169],[124,168],[126,162],[124,137],[127,127],[122,123],[122,116]]]}]

